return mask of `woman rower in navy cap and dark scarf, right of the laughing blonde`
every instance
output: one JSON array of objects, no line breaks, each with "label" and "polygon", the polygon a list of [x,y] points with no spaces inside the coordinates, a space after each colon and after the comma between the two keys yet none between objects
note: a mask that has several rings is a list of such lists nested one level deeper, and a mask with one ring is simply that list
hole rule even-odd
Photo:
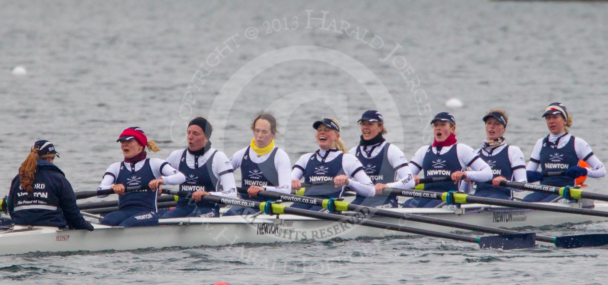
[{"label": "woman rower in navy cap and dark scarf, right of the laughing blonde", "polygon": [[[348,153],[357,157],[365,174],[376,184],[375,196],[357,194],[351,204],[376,208],[397,208],[397,196],[382,194],[384,188],[411,189],[415,186],[412,171],[407,166],[406,156],[397,146],[387,142],[382,135],[387,134],[384,118],[375,110],[365,111],[358,121],[361,126],[359,145]],[[395,180],[401,178],[395,182]]]}]

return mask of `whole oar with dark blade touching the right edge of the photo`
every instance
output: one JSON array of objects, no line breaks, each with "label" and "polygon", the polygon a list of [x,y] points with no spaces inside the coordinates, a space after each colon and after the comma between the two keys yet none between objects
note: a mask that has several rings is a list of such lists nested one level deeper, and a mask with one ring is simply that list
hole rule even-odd
[{"label": "whole oar with dark blade touching the right edge of the photo", "polygon": [[[294,191],[292,191],[292,193],[294,193]],[[320,206],[323,208],[328,208],[328,205],[330,204],[328,199],[324,200],[324,199],[318,199],[318,198],[313,198],[313,197],[302,197],[302,196],[295,196],[295,195],[289,195],[289,194],[280,194],[280,193],[275,193],[275,192],[271,192],[271,191],[260,191],[258,193],[258,196],[268,197],[271,199],[280,199],[282,201],[288,201],[288,202],[297,202],[297,203],[302,203],[302,204],[316,205],[316,206]],[[339,210],[339,211],[345,211],[345,210],[357,211],[360,213],[364,213],[366,215],[387,216],[390,218],[406,219],[406,220],[416,221],[416,222],[426,222],[428,224],[443,225],[446,227],[463,228],[465,230],[476,230],[478,232],[496,233],[497,235],[518,234],[519,233],[519,232],[515,232],[512,230],[504,230],[502,228],[492,228],[492,227],[485,227],[483,225],[465,224],[462,222],[448,221],[448,220],[444,220],[444,219],[431,218],[428,216],[411,215],[409,213],[398,213],[395,211],[388,211],[388,210],[384,210],[384,209],[364,207],[364,206],[360,206],[360,205],[353,205],[353,204],[350,204],[347,202],[341,202],[341,201],[334,201],[333,203],[334,203],[333,207],[335,207],[336,210]],[[528,233],[519,233],[519,234],[527,235]],[[556,247],[563,247],[566,249],[573,249],[575,247],[595,247],[595,246],[605,246],[606,244],[608,244],[608,233],[598,233],[598,234],[589,234],[589,235],[569,235],[569,236],[556,236],[556,237],[536,235],[536,240],[550,242],[550,243],[554,244]]]}]

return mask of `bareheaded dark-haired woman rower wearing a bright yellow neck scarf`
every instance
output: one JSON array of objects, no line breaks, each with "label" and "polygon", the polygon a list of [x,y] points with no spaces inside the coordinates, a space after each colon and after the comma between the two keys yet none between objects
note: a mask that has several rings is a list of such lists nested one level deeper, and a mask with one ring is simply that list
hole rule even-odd
[{"label": "bareheaded dark-haired woman rower wearing a bright yellow neck scarf", "polygon": [[[277,120],[268,113],[260,113],[251,124],[254,139],[246,148],[237,151],[230,162],[234,169],[241,168],[241,188],[247,189],[241,199],[266,202],[258,197],[260,191],[291,193],[291,162],[283,149],[274,145]],[[224,216],[251,215],[257,210],[231,206]]]}]

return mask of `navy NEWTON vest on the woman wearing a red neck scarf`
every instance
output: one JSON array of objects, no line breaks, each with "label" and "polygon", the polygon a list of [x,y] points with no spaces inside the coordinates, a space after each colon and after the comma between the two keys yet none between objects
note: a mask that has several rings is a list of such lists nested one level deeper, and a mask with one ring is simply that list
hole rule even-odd
[{"label": "navy NEWTON vest on the woman wearing a red neck scarf", "polygon": [[[462,166],[458,160],[456,146],[452,146],[447,153],[433,153],[433,146],[429,145],[422,162],[422,169],[425,178],[450,177],[455,171],[461,171]],[[458,184],[452,181],[425,183],[424,190],[435,192],[458,191]]]}]

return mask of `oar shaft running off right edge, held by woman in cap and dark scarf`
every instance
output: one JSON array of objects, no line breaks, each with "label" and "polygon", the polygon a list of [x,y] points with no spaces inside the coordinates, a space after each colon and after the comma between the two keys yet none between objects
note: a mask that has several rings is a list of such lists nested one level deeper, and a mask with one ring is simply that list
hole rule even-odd
[{"label": "oar shaft running off right edge, held by woman in cap and dark scarf", "polygon": [[[418,198],[424,198],[424,199],[436,199],[436,200],[445,201],[443,198],[444,193],[440,193],[440,192],[421,191],[421,190],[401,190],[401,189],[396,189],[396,188],[385,188],[384,191],[390,191],[393,195],[397,195],[397,196],[418,197]],[[499,206],[512,207],[512,208],[524,208],[524,209],[533,209],[533,210],[541,210],[541,211],[556,211],[556,212],[560,212],[560,213],[608,217],[608,211],[562,207],[562,206],[554,206],[554,205],[547,205],[547,204],[536,204],[536,203],[510,201],[510,200],[494,199],[494,198],[486,198],[486,197],[475,197],[475,196],[462,194],[462,193],[454,193],[454,196],[457,197],[457,200],[458,200],[457,202],[460,204],[478,203],[478,204],[487,204],[487,205],[499,205]]]}]

